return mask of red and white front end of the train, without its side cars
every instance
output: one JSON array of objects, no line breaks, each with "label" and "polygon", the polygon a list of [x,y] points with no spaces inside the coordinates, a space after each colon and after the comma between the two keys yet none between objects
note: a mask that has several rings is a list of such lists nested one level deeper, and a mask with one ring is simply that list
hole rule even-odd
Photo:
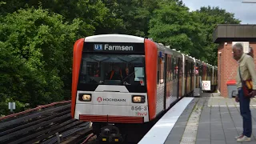
[{"label": "red and white front end of the train, without its side cars", "polygon": [[[156,78],[154,42],[123,34],[79,39],[74,44],[72,117],[93,122],[100,135],[127,123],[149,122],[156,116]],[[100,131],[102,126],[112,127]]]}]

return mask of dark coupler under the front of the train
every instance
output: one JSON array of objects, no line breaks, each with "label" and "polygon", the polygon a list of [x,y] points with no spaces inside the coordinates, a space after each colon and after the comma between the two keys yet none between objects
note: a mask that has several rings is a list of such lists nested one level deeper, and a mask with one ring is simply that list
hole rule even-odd
[{"label": "dark coupler under the front of the train", "polygon": [[98,142],[101,143],[122,143],[123,138],[119,133],[118,127],[114,125],[104,126],[98,136]]}]

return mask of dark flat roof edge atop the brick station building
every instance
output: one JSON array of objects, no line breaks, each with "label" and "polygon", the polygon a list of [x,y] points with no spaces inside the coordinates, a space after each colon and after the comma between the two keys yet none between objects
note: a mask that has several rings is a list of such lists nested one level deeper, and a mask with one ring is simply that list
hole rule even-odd
[{"label": "dark flat roof edge atop the brick station building", "polygon": [[256,42],[256,25],[219,24],[214,30],[213,41]]}]

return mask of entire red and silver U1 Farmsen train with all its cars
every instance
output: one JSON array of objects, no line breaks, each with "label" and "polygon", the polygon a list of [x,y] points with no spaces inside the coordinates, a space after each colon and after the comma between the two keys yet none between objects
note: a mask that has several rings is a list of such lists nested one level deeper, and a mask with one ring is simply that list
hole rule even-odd
[{"label": "entire red and silver U1 Farmsen train with all its cars", "polygon": [[199,96],[202,81],[217,86],[217,67],[170,46],[125,34],[81,38],[74,44],[73,118],[93,122],[95,133],[153,121],[184,96]]}]

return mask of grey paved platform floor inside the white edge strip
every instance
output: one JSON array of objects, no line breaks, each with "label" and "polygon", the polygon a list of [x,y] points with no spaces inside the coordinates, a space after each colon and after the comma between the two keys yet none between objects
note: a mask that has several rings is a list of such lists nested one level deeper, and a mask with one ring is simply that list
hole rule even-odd
[{"label": "grey paved platform floor inside the white edge strip", "polygon": [[[251,142],[256,143],[256,98],[250,101],[253,121]],[[239,103],[234,98],[223,98],[219,93],[204,93],[194,98],[166,138],[166,144],[234,144],[242,134]]]}]

